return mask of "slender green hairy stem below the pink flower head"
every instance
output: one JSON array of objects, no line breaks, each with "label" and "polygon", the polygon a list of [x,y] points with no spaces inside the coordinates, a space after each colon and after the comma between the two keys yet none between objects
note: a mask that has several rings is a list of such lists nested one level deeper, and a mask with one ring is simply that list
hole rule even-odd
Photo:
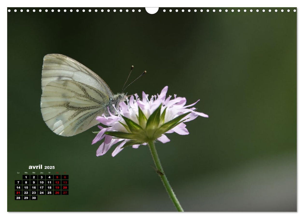
[{"label": "slender green hairy stem below the pink flower head", "polygon": [[162,179],[162,183],[164,184],[171,200],[173,201],[173,204],[175,205],[175,207],[178,211],[184,211],[182,206],[179,204],[179,201],[178,201],[177,197],[175,196],[172,187],[169,184],[169,181],[168,181],[168,179],[165,175],[164,170],[162,169],[162,165],[161,165],[160,160],[158,158],[154,142],[149,141],[148,145],[149,145],[149,148],[150,148],[150,151],[151,151],[151,154],[152,154],[152,157],[153,157],[156,169],[157,169],[157,173],[160,176],[160,178]]}]

